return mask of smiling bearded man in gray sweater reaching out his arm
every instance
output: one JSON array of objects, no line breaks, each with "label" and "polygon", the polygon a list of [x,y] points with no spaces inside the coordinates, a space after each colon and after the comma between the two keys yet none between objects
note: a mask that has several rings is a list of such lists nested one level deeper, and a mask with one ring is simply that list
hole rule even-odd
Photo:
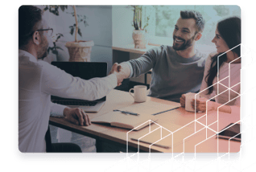
[{"label": "smiling bearded man in gray sweater reaching out his arm", "polygon": [[180,11],[173,31],[173,46],[151,48],[138,59],[117,65],[112,72],[122,71],[125,78],[137,77],[152,69],[148,96],[180,102],[187,92],[198,92],[204,76],[207,55],[195,50],[204,30],[204,18],[195,10]]}]

